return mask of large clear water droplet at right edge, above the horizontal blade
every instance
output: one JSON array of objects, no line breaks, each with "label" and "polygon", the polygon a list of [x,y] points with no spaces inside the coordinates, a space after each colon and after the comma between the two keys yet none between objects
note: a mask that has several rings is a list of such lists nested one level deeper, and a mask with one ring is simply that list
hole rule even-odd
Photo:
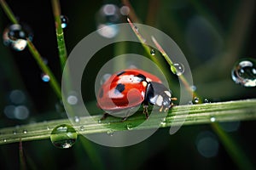
[{"label": "large clear water droplet at right edge, above the horizontal blade", "polygon": [[256,59],[241,59],[233,67],[231,76],[234,82],[244,87],[256,87]]}]

